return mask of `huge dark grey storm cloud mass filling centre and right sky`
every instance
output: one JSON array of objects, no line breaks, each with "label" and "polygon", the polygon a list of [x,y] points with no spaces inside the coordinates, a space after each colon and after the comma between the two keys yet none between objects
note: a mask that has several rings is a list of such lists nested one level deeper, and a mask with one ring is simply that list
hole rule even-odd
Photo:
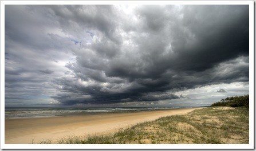
[{"label": "huge dark grey storm cloud mass filling centre and right sky", "polygon": [[[92,8],[94,15],[113,9]],[[142,6],[135,13],[138,21],[128,31],[115,14],[94,21],[90,16],[88,27],[95,23],[94,30],[104,37],[76,50],[77,63],[69,69],[91,85],[60,81],[62,91],[90,99],[54,99],[68,104],[178,99],[173,92],[184,88],[249,80],[249,64],[241,60],[249,55],[248,6]],[[86,19],[82,23],[86,26]],[[121,32],[125,36],[117,42],[113,37]]]}]

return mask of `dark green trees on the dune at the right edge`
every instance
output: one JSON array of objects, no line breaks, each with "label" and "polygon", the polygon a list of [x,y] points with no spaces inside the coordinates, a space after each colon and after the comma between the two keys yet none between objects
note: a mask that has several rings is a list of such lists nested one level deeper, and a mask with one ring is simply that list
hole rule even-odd
[{"label": "dark green trees on the dune at the right edge", "polygon": [[230,106],[230,107],[246,107],[249,108],[249,95],[231,96],[226,99],[221,99],[219,102],[211,104],[211,107]]}]

